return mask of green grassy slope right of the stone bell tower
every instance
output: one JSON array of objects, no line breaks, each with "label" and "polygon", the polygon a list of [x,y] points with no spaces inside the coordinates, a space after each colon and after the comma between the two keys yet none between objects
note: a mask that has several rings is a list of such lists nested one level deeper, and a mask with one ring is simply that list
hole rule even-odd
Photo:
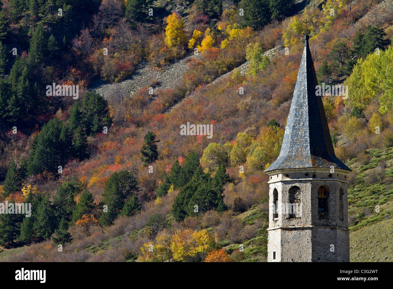
[{"label": "green grassy slope right of the stone bell tower", "polygon": [[[393,261],[393,148],[374,149],[368,155],[368,164],[360,164],[359,156],[350,162],[359,172],[348,190],[349,215],[357,215],[349,227],[350,259]],[[379,173],[378,182],[365,182],[372,170],[380,169],[383,158],[386,168]],[[379,213],[375,212],[376,205],[380,206]]]}]

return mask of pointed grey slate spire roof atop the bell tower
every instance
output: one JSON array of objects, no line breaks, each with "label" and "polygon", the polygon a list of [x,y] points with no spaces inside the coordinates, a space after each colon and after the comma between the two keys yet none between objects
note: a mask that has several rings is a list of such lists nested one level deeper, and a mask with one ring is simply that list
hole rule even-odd
[{"label": "pointed grey slate spire roof atop the bell tower", "polygon": [[334,154],[321,96],[316,96],[309,35],[304,37],[298,80],[285,127],[280,155],[265,172],[292,168],[330,168],[351,171]]}]

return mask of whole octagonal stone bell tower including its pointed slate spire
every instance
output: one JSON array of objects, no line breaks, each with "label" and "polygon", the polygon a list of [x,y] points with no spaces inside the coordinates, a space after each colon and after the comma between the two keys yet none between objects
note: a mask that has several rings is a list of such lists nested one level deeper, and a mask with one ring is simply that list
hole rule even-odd
[{"label": "whole octagonal stone bell tower including its pointed slate spire", "polygon": [[269,177],[269,262],[349,261],[347,174],[334,154],[309,48],[304,50],[280,155]]}]

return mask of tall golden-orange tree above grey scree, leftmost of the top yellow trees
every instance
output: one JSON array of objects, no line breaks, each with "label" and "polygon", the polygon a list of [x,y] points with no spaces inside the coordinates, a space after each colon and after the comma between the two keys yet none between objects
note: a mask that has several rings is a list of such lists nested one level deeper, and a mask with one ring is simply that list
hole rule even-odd
[{"label": "tall golden-orange tree above grey scree, leftmost of the top yellow trees", "polygon": [[184,28],[184,20],[177,12],[173,12],[167,17],[167,27],[165,27],[165,42],[169,47],[182,46],[187,42],[187,32]]}]

